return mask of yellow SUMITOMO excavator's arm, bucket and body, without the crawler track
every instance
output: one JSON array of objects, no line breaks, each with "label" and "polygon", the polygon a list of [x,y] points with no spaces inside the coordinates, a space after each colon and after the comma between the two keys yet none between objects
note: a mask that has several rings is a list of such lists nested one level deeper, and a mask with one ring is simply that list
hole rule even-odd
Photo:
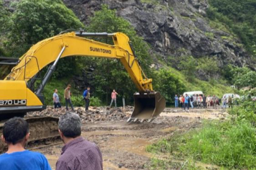
[{"label": "yellow SUMITOMO excavator's arm, bucket and body, without the crawler track", "polygon": [[[84,38],[95,36],[112,37],[113,45]],[[28,106],[37,108],[34,110],[44,109],[44,97],[42,96],[44,86],[49,81],[59,59],[70,56],[103,57],[120,60],[139,90],[139,93],[134,94],[135,108],[129,121],[137,120],[137,118],[152,120],[165,108],[165,99],[161,97],[160,93],[153,91],[152,79],[148,79],[141,69],[129,43],[129,37],[124,33],[71,32],[42,40],[20,57],[18,64],[13,67],[11,73],[6,76],[4,81],[0,81],[0,113],[13,111],[12,108],[15,108],[15,106],[16,111],[21,107],[26,108]],[[38,72],[52,62],[54,64],[50,67],[37,91],[32,92],[29,88],[23,87],[26,86],[28,81],[33,82]],[[19,83],[23,84],[23,88],[18,85]],[[23,96],[16,94],[17,86],[22,89],[18,91],[20,93],[22,91]],[[11,105],[5,105],[6,102]],[[15,102],[18,105],[15,105]],[[30,111],[33,111],[33,109]]]}]

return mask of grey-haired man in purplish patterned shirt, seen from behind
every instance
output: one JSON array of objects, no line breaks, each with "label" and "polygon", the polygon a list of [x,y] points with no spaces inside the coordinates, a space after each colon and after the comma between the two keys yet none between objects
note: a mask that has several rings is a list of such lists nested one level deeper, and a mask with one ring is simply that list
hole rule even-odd
[{"label": "grey-haired man in purplish patterned shirt, seen from behind", "polygon": [[96,144],[81,137],[81,120],[76,113],[59,118],[59,133],[64,142],[56,170],[102,170],[102,153]]}]

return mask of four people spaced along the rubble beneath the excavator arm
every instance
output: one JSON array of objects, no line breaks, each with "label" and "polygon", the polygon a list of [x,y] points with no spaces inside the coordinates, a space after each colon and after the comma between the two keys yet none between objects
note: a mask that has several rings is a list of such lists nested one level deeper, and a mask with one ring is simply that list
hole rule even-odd
[{"label": "four people spaced along the rubble beneath the excavator arm", "polygon": [[[85,88],[84,92],[83,92],[83,99],[85,101],[85,111],[89,110],[89,106],[90,106],[90,98],[91,98],[91,92],[90,92],[90,87]],[[112,93],[111,93],[111,103],[110,103],[110,108],[112,106],[112,103],[115,102],[115,108],[117,107],[117,95],[118,93],[115,91],[115,89],[113,89]],[[61,108],[61,102],[59,100],[59,95],[58,95],[58,90],[55,89],[54,90],[54,94],[53,94],[53,102],[54,102],[54,109],[57,110],[58,108]],[[68,84],[67,88],[64,90],[64,98],[65,98],[65,102],[66,102],[66,110],[69,110],[68,105],[71,107],[71,110],[74,111],[74,106],[71,102],[71,85]]]}]

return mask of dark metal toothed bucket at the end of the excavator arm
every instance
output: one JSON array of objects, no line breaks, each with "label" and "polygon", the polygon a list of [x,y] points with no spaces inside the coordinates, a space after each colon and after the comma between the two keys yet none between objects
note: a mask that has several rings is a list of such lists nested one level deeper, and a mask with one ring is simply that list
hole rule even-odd
[{"label": "dark metal toothed bucket at the end of the excavator arm", "polygon": [[151,122],[165,109],[165,98],[159,92],[134,94],[134,111],[127,122],[148,120]]}]

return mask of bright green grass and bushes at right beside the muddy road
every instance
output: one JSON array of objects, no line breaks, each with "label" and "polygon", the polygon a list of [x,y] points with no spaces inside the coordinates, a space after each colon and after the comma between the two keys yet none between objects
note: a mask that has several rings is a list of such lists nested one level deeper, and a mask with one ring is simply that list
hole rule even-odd
[{"label": "bright green grass and bushes at right beside the muddy road", "polygon": [[[232,116],[228,120],[205,120],[201,127],[149,145],[148,152],[170,157],[164,161],[156,157],[151,167],[166,169],[170,163],[165,162],[190,160],[195,166],[204,162],[217,165],[218,169],[255,169],[256,101],[249,96],[256,96],[256,90],[246,92],[245,96],[248,97],[240,101],[240,106],[230,110]],[[195,166],[186,169],[195,169]]]}]

